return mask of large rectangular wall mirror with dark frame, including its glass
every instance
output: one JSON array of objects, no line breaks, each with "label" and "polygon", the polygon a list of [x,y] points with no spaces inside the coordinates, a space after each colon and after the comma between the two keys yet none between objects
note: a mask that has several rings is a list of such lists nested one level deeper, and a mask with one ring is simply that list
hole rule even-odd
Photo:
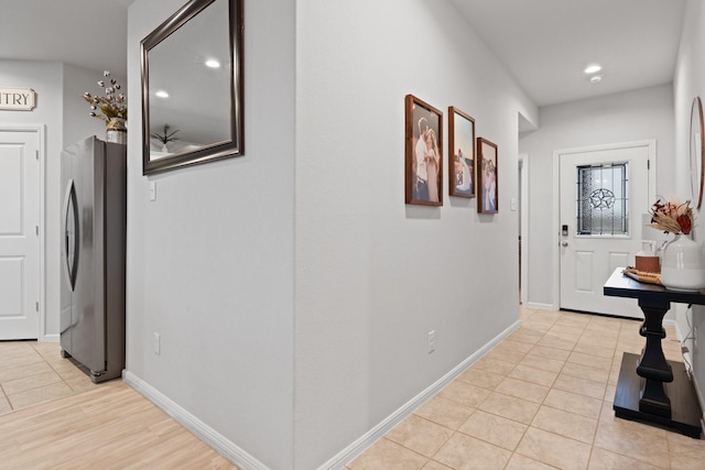
[{"label": "large rectangular wall mirror with dark frame, including its glass", "polygon": [[242,154],[240,0],[191,0],[141,43],[143,174]]}]

